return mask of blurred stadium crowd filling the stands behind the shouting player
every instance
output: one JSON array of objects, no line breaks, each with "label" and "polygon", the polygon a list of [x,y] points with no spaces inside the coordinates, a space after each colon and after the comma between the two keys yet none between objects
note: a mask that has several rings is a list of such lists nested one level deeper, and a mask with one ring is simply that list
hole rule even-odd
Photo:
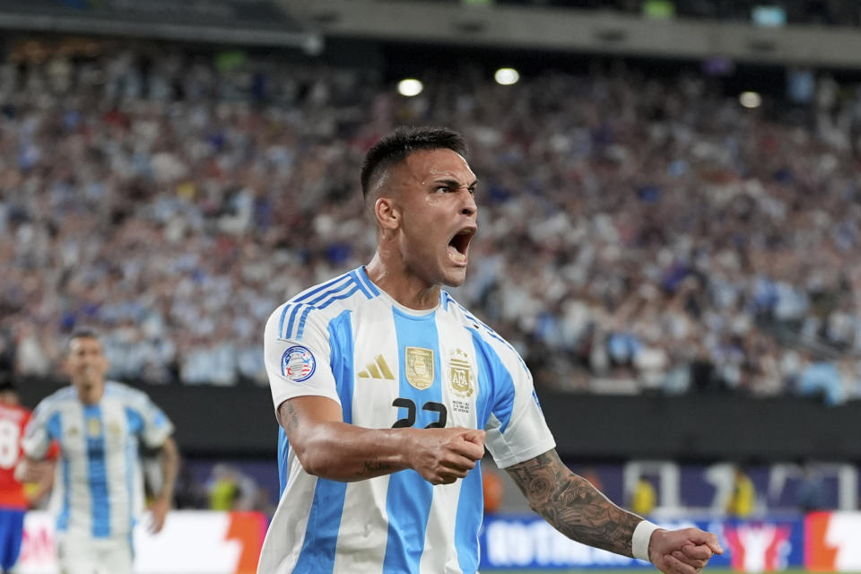
[{"label": "blurred stadium crowd filling the stands behind the shouting player", "polygon": [[115,378],[265,384],[272,309],[370,259],[359,161],[406,123],[470,140],[454,295],[537,385],[861,396],[861,91],[744,109],[697,74],[458,68],[404,98],[238,52],[38,60],[0,65],[0,370],[54,376],[85,325]]}]

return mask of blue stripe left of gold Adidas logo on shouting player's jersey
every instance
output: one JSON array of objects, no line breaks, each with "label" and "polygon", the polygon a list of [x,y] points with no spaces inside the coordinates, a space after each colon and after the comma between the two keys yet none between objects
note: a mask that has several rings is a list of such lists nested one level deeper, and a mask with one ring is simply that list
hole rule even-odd
[{"label": "blue stripe left of gold Adidas logo on shouting player's jersey", "polygon": [[[332,348],[330,367],[335,375],[344,422],[352,423],[352,384],[355,369],[352,364],[350,311],[344,311],[329,322],[329,345]],[[341,529],[346,492],[346,483],[317,479],[308,526],[305,529],[305,541],[302,543],[294,572],[317,574],[335,570],[335,547],[338,543],[338,531]]]}]

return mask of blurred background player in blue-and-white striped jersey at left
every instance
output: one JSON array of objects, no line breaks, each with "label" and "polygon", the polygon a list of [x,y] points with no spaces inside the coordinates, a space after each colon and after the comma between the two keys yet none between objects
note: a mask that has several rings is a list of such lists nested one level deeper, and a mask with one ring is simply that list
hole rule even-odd
[{"label": "blurred background player in blue-and-white striped jersey at left", "polygon": [[161,491],[151,504],[158,532],[170,509],[178,454],[173,425],[142,391],[105,381],[108,361],[88,331],[69,340],[64,361],[72,386],[43,399],[22,441],[39,460],[57,440],[52,508],[57,512],[57,560],[64,574],[130,574],[132,529],[143,510],[138,446],[161,449]]}]

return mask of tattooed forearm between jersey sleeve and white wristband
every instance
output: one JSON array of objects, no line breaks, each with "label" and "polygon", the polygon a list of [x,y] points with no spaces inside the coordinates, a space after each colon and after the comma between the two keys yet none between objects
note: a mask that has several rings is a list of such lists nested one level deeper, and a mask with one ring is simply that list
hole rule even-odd
[{"label": "tattooed forearm between jersey sleeve and white wristband", "polygon": [[585,478],[572,473],[555,450],[506,470],[529,506],[563,535],[631,556],[631,535],[641,518],[620,509]]}]

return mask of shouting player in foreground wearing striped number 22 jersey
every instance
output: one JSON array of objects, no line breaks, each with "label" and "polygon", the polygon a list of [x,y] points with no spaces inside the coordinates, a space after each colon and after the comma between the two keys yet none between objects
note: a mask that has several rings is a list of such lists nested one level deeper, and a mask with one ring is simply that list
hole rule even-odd
[{"label": "shouting player in foreground wearing striped number 22 jersey", "polygon": [[371,148],[377,253],[266,324],[282,495],[258,573],[474,574],[486,447],[563,534],[694,574],[717,537],[657,528],[571,473],[517,352],[441,289],[464,282],[478,229],[464,156],[446,129]]}]

